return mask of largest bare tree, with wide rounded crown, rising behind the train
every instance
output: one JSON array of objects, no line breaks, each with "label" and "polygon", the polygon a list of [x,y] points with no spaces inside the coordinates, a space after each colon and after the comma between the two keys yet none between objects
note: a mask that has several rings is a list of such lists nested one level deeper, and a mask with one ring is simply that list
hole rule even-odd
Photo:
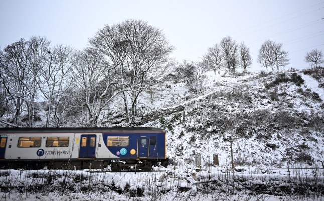
[{"label": "largest bare tree, with wide rounded crown, rising behind the train", "polygon": [[110,66],[119,83],[128,122],[137,115],[139,95],[162,80],[170,68],[170,46],[160,29],[140,20],[126,20],[106,26],[89,40]]}]

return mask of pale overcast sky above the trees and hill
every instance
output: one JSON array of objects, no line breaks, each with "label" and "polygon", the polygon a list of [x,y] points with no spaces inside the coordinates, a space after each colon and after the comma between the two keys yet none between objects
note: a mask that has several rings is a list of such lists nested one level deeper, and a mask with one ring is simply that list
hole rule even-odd
[{"label": "pale overcast sky above the trees and hill", "polygon": [[179,62],[198,62],[208,47],[231,36],[250,47],[252,69],[261,44],[283,43],[291,67],[302,69],[305,53],[324,51],[324,1],[17,1],[0,0],[0,48],[31,36],[45,37],[52,45],[83,49],[98,29],[126,19],[147,21],[163,30]]}]

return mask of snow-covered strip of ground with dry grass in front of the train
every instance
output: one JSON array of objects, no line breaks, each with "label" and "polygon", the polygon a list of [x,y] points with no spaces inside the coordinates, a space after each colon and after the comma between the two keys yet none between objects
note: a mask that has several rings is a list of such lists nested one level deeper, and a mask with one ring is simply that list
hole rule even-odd
[{"label": "snow-covered strip of ground with dry grass in front of the train", "polygon": [[[1,170],[1,200],[322,200],[321,169]],[[198,172],[197,172],[198,171]],[[310,187],[309,187],[310,186]],[[318,196],[319,195],[319,196]]]}]

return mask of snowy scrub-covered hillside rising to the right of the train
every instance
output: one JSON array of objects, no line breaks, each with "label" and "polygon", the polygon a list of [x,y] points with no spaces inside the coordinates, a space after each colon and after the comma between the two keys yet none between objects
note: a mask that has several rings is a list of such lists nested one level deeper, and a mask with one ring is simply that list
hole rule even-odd
[{"label": "snowy scrub-covered hillside rising to the right of the train", "polygon": [[205,90],[195,94],[185,83],[171,80],[144,104],[146,111],[153,111],[146,113],[150,118],[144,115],[140,126],[166,128],[168,155],[174,160],[190,163],[201,153],[207,164],[219,154],[220,165],[228,166],[230,140],[237,140],[233,142],[236,165],[286,167],[289,161],[289,165],[321,166],[321,83],[309,72],[237,76],[208,72]]}]

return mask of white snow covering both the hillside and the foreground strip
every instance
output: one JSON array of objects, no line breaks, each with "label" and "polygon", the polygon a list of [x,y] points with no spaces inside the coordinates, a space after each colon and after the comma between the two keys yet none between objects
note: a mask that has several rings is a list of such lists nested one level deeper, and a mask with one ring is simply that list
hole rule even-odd
[{"label": "white snow covering both the hillside and the foreground strip", "polygon": [[[324,100],[324,88],[318,81],[302,72],[296,72],[304,79],[300,87],[293,83],[280,83],[267,90],[265,83],[273,81],[278,73],[252,72],[240,76],[214,75],[207,72],[205,90],[193,93],[185,83],[169,81],[158,87],[158,92],[144,94],[139,103],[143,113],[157,109],[172,109],[184,106],[176,114],[165,115],[165,122],[159,120],[147,122],[143,127],[161,127],[167,129],[167,155],[171,165],[161,172],[119,172],[89,173],[86,171],[38,170],[19,171],[1,170],[1,189],[11,186],[33,186],[46,180],[44,175],[56,175],[53,186],[72,186],[75,192],[62,193],[54,190],[47,193],[19,192],[17,188],[10,192],[1,191],[1,200],[324,200],[323,195],[310,192],[307,196],[298,195],[295,184],[322,186],[324,173],[322,156],[324,155],[324,136],[322,130],[312,130],[298,123],[289,129],[273,129],[267,136],[268,119],[277,113],[293,115],[323,115],[323,102],[306,94],[317,93]],[[290,76],[292,72],[285,72]],[[168,87],[166,87],[168,86]],[[299,93],[302,89],[304,94]],[[309,92],[307,91],[309,89]],[[269,97],[269,91],[276,91],[278,100]],[[279,95],[281,94],[281,95]],[[306,95],[305,95],[306,94]],[[213,113],[214,112],[214,113]],[[213,114],[213,119],[210,115]],[[248,115],[255,114],[249,125],[256,134],[241,136],[237,133],[245,128]],[[237,125],[228,124],[229,118],[237,117]],[[291,117],[291,118],[292,118]],[[284,121],[283,119],[282,121]],[[221,123],[216,124],[215,121]],[[307,120],[305,120],[307,121]],[[210,122],[210,123],[208,123]],[[307,123],[307,122],[306,122]],[[223,128],[221,125],[225,125]],[[242,126],[241,126],[242,125]],[[232,126],[232,130],[226,129]],[[275,126],[272,126],[275,127]],[[224,130],[222,130],[224,129]],[[250,130],[250,131],[251,131]],[[251,132],[252,132],[251,131]],[[215,134],[216,133],[216,134]],[[247,137],[248,136],[248,137]],[[230,139],[233,142],[235,171],[231,169]],[[296,147],[294,154],[305,153],[313,158],[312,164],[293,163],[287,160],[287,154]],[[195,167],[195,155],[201,154],[202,168]],[[213,154],[218,154],[219,166],[214,167]],[[292,155],[294,157],[294,155]],[[289,165],[289,171],[288,171]],[[284,168],[284,169],[279,169]],[[298,168],[298,169],[295,169]],[[43,176],[35,176],[43,175]],[[34,178],[35,177],[35,178]],[[54,176],[53,176],[54,177]],[[69,178],[69,179],[68,179]],[[75,183],[78,179],[80,181]],[[82,187],[96,186],[103,191],[82,192]],[[268,186],[269,194],[251,191]],[[111,190],[111,188],[114,190]],[[280,191],[289,187],[291,194]],[[131,197],[130,192],[144,190],[143,197]],[[321,188],[322,189],[322,188]],[[276,194],[276,193],[277,194]],[[281,193],[281,194],[280,194]],[[137,195],[136,195],[137,196]]]}]

